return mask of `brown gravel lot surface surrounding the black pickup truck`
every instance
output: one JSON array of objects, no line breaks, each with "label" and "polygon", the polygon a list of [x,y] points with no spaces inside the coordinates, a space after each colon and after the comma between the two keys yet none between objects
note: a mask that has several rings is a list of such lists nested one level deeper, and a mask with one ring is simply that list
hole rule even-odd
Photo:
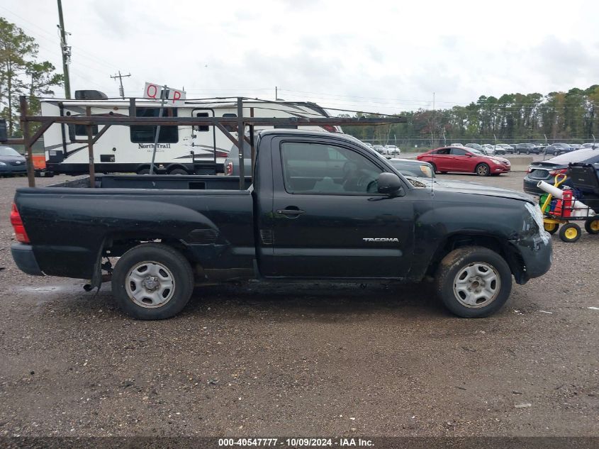
[{"label": "brown gravel lot surface surrounding the black pickup truck", "polygon": [[250,282],[142,322],[109,284],[16,269],[26,184],[0,179],[0,436],[599,435],[599,236],[554,235],[549,274],[490,318],[455,318],[426,284]]}]

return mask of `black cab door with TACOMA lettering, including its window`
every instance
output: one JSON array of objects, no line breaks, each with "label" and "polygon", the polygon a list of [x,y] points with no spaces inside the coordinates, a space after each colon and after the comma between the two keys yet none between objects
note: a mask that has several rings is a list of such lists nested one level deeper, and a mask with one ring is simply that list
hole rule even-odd
[{"label": "black cab door with TACOMA lettering, including its window", "polygon": [[376,155],[339,140],[281,136],[272,140],[271,158],[273,200],[263,223],[273,248],[264,275],[408,275],[413,203],[407,194],[376,192],[379,174],[392,171]]}]

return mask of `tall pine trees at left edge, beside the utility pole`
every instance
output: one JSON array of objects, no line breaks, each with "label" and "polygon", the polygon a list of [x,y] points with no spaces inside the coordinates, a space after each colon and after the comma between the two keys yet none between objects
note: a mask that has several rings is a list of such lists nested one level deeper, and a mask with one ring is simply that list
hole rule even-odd
[{"label": "tall pine trees at left edge, beside the utility pole", "polygon": [[40,113],[38,97],[53,95],[52,87],[62,84],[55,70],[49,61],[38,60],[34,38],[0,17],[0,117],[6,119],[9,136],[21,137],[18,97],[29,96],[29,113]]}]

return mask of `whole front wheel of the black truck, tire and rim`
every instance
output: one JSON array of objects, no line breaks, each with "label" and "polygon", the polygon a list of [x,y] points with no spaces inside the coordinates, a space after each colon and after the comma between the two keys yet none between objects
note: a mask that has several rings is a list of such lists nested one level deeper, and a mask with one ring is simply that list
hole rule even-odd
[{"label": "whole front wheel of the black truck, tire and rim", "polygon": [[481,246],[453,250],[441,261],[435,288],[443,304],[462,318],[498,311],[512,290],[512,272],[503,257]]}]

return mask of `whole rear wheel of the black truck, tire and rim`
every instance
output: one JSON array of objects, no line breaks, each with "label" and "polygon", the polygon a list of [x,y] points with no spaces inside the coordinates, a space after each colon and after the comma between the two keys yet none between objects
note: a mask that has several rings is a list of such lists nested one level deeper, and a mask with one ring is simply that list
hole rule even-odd
[{"label": "whole rear wheel of the black truck, tire and rim", "polygon": [[126,314],[140,320],[177,315],[194,291],[194,272],[186,258],[160,243],[142,243],[118,260],[112,293]]}]

